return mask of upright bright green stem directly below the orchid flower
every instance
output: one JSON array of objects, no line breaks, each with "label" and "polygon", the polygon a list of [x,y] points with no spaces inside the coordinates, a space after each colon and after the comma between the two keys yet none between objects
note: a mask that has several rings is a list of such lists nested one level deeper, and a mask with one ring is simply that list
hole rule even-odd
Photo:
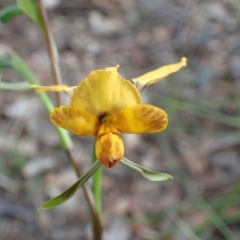
[{"label": "upright bright green stem directly below the orchid flower", "polygon": [[[95,154],[95,147],[93,148],[92,163],[98,161]],[[95,199],[95,204],[98,212],[99,218],[102,216],[102,167],[100,167],[93,175],[92,184],[93,196]]]}]

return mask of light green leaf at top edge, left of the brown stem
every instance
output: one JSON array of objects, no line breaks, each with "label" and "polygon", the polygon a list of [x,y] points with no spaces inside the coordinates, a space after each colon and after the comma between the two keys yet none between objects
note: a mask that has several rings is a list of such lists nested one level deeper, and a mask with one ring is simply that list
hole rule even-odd
[{"label": "light green leaf at top edge, left of the brown stem", "polygon": [[16,0],[18,7],[43,31],[43,23],[36,0]]}]

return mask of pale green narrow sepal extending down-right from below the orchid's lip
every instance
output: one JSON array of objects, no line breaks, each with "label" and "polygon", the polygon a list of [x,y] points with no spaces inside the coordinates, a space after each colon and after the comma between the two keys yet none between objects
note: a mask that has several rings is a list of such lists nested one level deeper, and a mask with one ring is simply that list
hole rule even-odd
[{"label": "pale green narrow sepal extending down-right from below the orchid's lip", "polygon": [[164,180],[173,178],[171,175],[169,175],[167,173],[154,172],[145,167],[142,167],[136,163],[133,163],[132,161],[128,160],[125,157],[122,158],[121,163],[123,165],[125,165],[126,167],[131,168],[132,170],[136,171],[142,177],[144,177],[150,181],[164,181]]}]

